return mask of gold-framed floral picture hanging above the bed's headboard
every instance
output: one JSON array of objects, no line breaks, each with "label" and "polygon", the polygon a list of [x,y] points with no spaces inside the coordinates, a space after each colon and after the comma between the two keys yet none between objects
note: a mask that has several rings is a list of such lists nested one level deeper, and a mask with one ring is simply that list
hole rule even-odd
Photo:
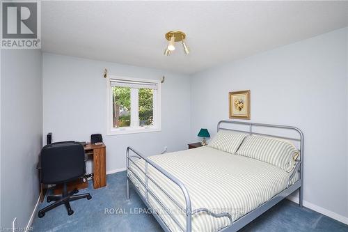
[{"label": "gold-framed floral picture hanging above the bed's headboard", "polygon": [[228,93],[230,118],[250,119],[250,91]]}]

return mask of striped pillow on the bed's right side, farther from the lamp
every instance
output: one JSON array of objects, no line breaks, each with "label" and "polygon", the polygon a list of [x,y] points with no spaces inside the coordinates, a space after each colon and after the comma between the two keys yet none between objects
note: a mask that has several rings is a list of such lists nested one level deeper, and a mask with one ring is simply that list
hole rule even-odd
[{"label": "striped pillow on the bed's right side, farther from the lamp", "polygon": [[274,164],[285,171],[294,168],[299,150],[287,141],[260,137],[248,136],[237,150],[237,155],[244,155],[255,160]]}]

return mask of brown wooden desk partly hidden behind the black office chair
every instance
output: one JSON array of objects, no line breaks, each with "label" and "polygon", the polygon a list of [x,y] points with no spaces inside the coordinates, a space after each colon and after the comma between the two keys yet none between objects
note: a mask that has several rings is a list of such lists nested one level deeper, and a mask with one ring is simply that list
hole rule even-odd
[{"label": "brown wooden desk partly hidden behind the black office chair", "polygon": [[[93,160],[92,173],[93,173],[93,188],[99,189],[106,186],[106,146],[105,144],[95,145],[87,144],[84,146],[85,153],[88,155],[88,159]],[[54,189],[54,194],[61,194],[62,186],[57,185]],[[74,180],[68,183],[68,191],[72,191],[75,188],[81,190],[88,187],[88,182],[83,182],[81,179]],[[40,200],[41,202],[45,198],[47,187],[40,183]]]}]

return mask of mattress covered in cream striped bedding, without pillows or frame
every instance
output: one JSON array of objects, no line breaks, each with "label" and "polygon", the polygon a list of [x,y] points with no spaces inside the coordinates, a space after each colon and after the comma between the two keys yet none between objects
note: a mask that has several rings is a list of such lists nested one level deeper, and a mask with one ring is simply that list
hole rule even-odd
[{"label": "mattress covered in cream striped bedding, without pillows or frame", "polygon": [[[227,212],[232,217],[232,222],[285,190],[291,175],[291,172],[272,164],[242,155],[232,155],[207,146],[148,158],[184,183],[189,192],[193,212],[199,208],[207,208],[218,214]],[[143,159],[134,162],[145,172]],[[145,197],[145,187],[139,181],[145,183],[145,174],[136,165],[130,162],[131,171],[127,174]],[[148,164],[148,175],[175,199],[181,208],[186,208],[180,187],[150,164]],[[295,175],[292,183],[296,181],[295,178],[298,176]],[[171,231],[186,229],[185,213],[150,179],[148,186],[155,195],[148,194],[148,202],[168,228]],[[168,212],[171,212],[174,219]],[[207,212],[200,212],[192,217],[192,231],[219,231],[230,225],[228,217],[216,218]]]}]

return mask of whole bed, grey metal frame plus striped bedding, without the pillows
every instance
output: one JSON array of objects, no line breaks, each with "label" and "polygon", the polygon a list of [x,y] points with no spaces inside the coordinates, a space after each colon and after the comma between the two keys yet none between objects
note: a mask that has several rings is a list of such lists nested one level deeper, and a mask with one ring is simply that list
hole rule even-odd
[{"label": "whole bed, grey metal frame plus striped bedding, without the pillows", "polygon": [[[242,125],[246,130],[223,125]],[[299,138],[253,132],[253,127],[293,130]],[[127,148],[127,199],[132,185],[164,231],[237,231],[300,189],[302,206],[303,134],[296,127],[220,121],[219,130],[299,142],[294,167],[209,146],[145,157]]]}]

